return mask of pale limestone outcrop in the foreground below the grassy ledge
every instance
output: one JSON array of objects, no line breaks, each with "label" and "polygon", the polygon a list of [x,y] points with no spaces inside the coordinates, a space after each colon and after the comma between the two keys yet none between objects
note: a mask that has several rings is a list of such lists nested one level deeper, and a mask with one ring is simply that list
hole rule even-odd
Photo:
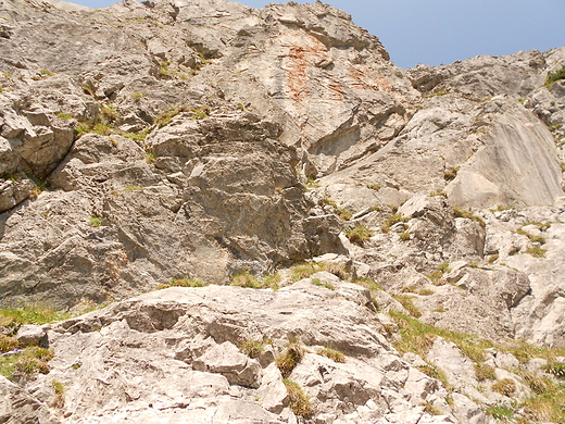
[{"label": "pale limestone outcrop in the foreground below the grassy ledge", "polygon": [[[260,365],[237,348],[247,339],[268,340],[278,356],[294,337],[305,353],[289,379],[303,387],[317,420],[395,422],[404,411],[429,423],[454,422],[453,412],[435,417],[419,407],[447,391],[381,336],[387,317],[352,300],[350,284],[332,280],[335,290],[311,279],[276,292],[170,288],[62,322],[49,332],[51,371],[35,385],[64,385],[59,413],[65,423],[296,423],[273,360]],[[359,291],[368,297],[367,289]],[[341,350],[346,362],[315,353],[327,346]],[[411,398],[394,396],[404,387]],[[52,390],[35,394],[40,406],[52,397]]]}]

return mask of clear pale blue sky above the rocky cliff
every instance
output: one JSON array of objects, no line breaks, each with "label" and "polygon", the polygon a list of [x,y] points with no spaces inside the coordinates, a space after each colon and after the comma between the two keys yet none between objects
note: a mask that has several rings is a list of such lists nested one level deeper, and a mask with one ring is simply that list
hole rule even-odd
[{"label": "clear pale blue sky above the rocky cliff", "polygon": [[[241,0],[262,8],[273,0]],[[314,0],[312,0],[314,1]],[[112,0],[74,0],[104,8]],[[564,0],[325,0],[380,38],[401,67],[565,46]],[[305,1],[299,1],[305,3]]]}]

